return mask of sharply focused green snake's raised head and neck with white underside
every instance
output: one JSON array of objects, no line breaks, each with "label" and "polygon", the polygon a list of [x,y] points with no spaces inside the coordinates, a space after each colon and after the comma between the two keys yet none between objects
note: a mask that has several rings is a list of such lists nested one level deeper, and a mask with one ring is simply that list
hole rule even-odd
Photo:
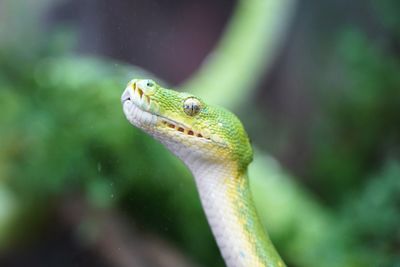
[{"label": "sharply focused green snake's raised head and neck with white underside", "polygon": [[231,112],[152,80],[130,81],[121,96],[131,124],[164,144],[190,169],[229,267],[283,267],[257,215],[247,166],[253,151]]}]

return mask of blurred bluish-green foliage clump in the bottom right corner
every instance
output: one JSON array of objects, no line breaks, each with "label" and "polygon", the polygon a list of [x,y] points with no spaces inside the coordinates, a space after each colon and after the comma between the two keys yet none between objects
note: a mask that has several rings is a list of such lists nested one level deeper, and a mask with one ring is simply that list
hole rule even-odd
[{"label": "blurred bluish-green foliage clump in the bottom right corner", "polygon": [[362,253],[356,266],[400,264],[399,177],[400,163],[388,161],[343,208],[346,234]]}]

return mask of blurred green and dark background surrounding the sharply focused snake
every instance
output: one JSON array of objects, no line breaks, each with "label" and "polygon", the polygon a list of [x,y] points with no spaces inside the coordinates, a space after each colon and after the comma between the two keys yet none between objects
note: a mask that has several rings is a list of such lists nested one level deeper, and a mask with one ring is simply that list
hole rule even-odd
[{"label": "blurred green and dark background surrounding the sharply focused snake", "polygon": [[289,266],[400,266],[397,0],[0,0],[0,266],[224,266],[136,77],[238,114]]}]

